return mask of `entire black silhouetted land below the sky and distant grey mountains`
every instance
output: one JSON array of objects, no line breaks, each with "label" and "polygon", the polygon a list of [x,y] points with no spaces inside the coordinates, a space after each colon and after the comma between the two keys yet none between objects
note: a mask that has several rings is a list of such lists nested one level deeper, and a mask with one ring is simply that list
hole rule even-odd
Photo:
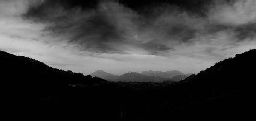
[{"label": "entire black silhouetted land below the sky and distant grey mountains", "polygon": [[255,76],[255,49],[180,82],[109,82],[0,51],[15,121],[256,121]]}]

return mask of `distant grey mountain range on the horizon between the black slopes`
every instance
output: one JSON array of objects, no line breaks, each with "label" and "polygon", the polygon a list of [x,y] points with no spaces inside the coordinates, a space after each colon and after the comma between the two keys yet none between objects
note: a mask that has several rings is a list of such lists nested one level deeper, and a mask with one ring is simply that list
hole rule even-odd
[{"label": "distant grey mountain range on the horizon between the black slopes", "polygon": [[121,76],[107,73],[103,70],[97,70],[90,74],[91,76],[97,76],[109,81],[123,81],[123,82],[161,82],[161,81],[180,81],[188,77],[180,71],[143,71],[142,73],[128,72]]}]

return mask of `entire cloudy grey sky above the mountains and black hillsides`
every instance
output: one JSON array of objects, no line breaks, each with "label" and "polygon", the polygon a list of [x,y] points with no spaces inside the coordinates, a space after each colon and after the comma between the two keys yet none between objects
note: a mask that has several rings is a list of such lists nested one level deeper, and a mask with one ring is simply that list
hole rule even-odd
[{"label": "entire cloudy grey sky above the mountains and black hillsides", "polygon": [[256,48],[256,0],[0,0],[0,50],[54,68],[199,73]]}]

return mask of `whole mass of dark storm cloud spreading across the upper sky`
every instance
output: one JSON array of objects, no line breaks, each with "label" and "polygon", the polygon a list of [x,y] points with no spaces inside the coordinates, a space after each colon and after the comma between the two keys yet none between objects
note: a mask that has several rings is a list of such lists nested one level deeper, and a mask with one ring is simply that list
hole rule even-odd
[{"label": "whole mass of dark storm cloud spreading across the upper sky", "polygon": [[59,41],[96,53],[163,55],[219,33],[232,33],[234,41],[255,37],[255,13],[242,16],[252,11],[252,0],[85,1],[43,0],[24,17],[47,23],[45,31]]}]

